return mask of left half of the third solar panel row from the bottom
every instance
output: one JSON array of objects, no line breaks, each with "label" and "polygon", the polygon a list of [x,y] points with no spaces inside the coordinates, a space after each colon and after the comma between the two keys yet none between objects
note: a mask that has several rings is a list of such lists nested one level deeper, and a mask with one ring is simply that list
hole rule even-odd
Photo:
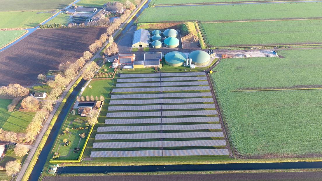
[{"label": "left half of the third solar panel row from the bottom", "polygon": [[[207,133],[207,132],[205,132]],[[210,132],[212,133],[212,132]],[[216,132],[213,132],[216,133]],[[133,134],[96,134],[95,140],[100,139],[157,139],[162,138],[161,133],[133,133]]]}]

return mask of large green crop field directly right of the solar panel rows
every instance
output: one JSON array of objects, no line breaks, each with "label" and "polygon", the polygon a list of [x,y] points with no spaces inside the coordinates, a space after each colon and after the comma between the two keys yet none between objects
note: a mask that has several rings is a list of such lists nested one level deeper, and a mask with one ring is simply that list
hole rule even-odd
[{"label": "large green crop field directly right of the solar panel rows", "polygon": [[[285,58],[223,59],[212,74],[237,157],[321,156],[320,50],[278,51]],[[310,72],[310,73],[308,73]]]}]

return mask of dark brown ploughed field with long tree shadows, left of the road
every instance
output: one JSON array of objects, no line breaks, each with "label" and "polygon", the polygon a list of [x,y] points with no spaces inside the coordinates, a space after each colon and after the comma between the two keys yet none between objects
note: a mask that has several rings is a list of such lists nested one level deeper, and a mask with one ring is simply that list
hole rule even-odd
[{"label": "dark brown ploughed field with long tree shadows, left of the road", "polygon": [[[0,54],[0,86],[30,85],[37,75],[75,62],[106,28],[40,29]],[[14,60],[14,62],[12,61]]]}]

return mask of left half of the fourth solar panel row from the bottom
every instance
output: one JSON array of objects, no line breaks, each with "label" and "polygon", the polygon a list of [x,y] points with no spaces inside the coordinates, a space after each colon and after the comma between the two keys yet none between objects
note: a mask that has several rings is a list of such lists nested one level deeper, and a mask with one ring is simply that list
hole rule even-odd
[{"label": "left half of the fourth solar panel row from the bottom", "polygon": [[155,126],[100,126],[97,132],[114,132],[114,131],[160,131],[161,125]]}]

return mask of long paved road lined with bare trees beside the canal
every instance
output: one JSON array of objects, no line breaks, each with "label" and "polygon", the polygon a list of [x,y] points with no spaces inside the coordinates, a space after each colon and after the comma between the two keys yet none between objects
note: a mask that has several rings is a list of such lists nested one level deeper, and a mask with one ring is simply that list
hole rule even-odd
[{"label": "long paved road lined with bare trees beside the canal", "polygon": [[[133,13],[128,17],[128,19],[125,22],[127,22],[134,13],[136,13],[136,11],[133,11]],[[119,31],[122,31],[121,28],[123,28],[123,26],[125,26],[125,25],[126,25],[126,23],[121,24],[120,28],[118,28],[118,30],[114,32],[113,36],[115,36]],[[78,80],[78,78],[81,77],[83,71],[86,70],[86,68],[89,66],[90,62],[94,61],[96,58],[101,58],[101,56],[99,55],[99,52],[101,52],[103,50],[103,48],[108,43],[109,43],[108,41],[106,43],[104,43],[104,45],[93,56],[93,58],[89,62],[86,63],[84,68],[81,71],[79,71],[77,76],[71,81],[71,83],[67,86],[66,90],[64,90],[64,92],[62,93],[61,97],[57,100],[55,107],[53,108],[53,110],[50,113],[48,119],[46,120],[45,124],[43,125],[42,130],[40,131],[39,135],[37,136],[37,138],[36,138],[36,140],[35,140],[35,142],[33,144],[33,147],[30,149],[30,152],[29,152],[26,160],[24,161],[23,166],[21,167],[21,170],[18,173],[18,176],[16,177],[17,181],[22,180],[22,178],[23,178],[23,176],[24,176],[24,174],[25,174],[25,172],[26,172],[26,170],[27,170],[32,158],[33,158],[33,155],[36,153],[36,150],[37,150],[41,140],[43,139],[43,136],[45,135],[45,132],[49,128],[49,125],[50,125],[50,122],[52,121],[53,116],[55,115],[55,113],[58,110],[59,106],[62,104],[62,100],[65,98],[65,96],[67,95],[68,91],[71,89],[71,87],[74,85],[74,83]]]}]

